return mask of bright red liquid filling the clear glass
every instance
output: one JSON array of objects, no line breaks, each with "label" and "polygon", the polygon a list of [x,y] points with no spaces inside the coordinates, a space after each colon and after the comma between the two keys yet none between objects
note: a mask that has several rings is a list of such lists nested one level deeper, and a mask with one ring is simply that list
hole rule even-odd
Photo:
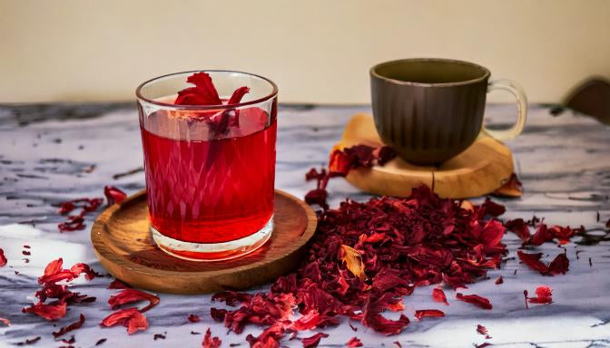
[{"label": "bright red liquid filling the clear glass", "polygon": [[275,117],[265,128],[268,122],[261,109],[241,110],[237,133],[245,135],[221,140],[173,140],[143,129],[153,227],[192,243],[227,242],[264,227],[273,214],[277,131]]}]

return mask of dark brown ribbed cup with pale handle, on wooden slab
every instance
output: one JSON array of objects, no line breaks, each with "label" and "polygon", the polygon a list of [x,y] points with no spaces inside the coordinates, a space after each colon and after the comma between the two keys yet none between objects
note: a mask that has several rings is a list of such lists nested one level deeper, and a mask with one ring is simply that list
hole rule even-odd
[{"label": "dark brown ribbed cup with pale handle, on wooden slab", "polygon": [[[475,63],[416,58],[370,69],[375,126],[381,140],[414,164],[438,165],[472,145],[479,134],[517,137],[526,123],[526,94],[516,82],[489,81]],[[508,130],[483,126],[487,92],[505,90],[517,99],[517,123]]]}]

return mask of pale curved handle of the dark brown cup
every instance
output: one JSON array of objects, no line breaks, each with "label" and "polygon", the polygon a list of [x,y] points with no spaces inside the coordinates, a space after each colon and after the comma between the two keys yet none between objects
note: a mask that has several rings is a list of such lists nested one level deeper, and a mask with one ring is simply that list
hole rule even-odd
[{"label": "pale curved handle of the dark brown cup", "polygon": [[492,92],[495,90],[508,91],[513,93],[515,99],[517,100],[517,123],[513,125],[510,129],[501,130],[501,131],[491,131],[487,130],[485,126],[483,126],[483,133],[495,138],[496,140],[511,140],[517,138],[519,134],[523,131],[523,127],[526,125],[526,117],[527,117],[527,97],[526,92],[523,91],[520,85],[517,82],[507,79],[494,80],[489,82],[487,85],[487,92]]}]

